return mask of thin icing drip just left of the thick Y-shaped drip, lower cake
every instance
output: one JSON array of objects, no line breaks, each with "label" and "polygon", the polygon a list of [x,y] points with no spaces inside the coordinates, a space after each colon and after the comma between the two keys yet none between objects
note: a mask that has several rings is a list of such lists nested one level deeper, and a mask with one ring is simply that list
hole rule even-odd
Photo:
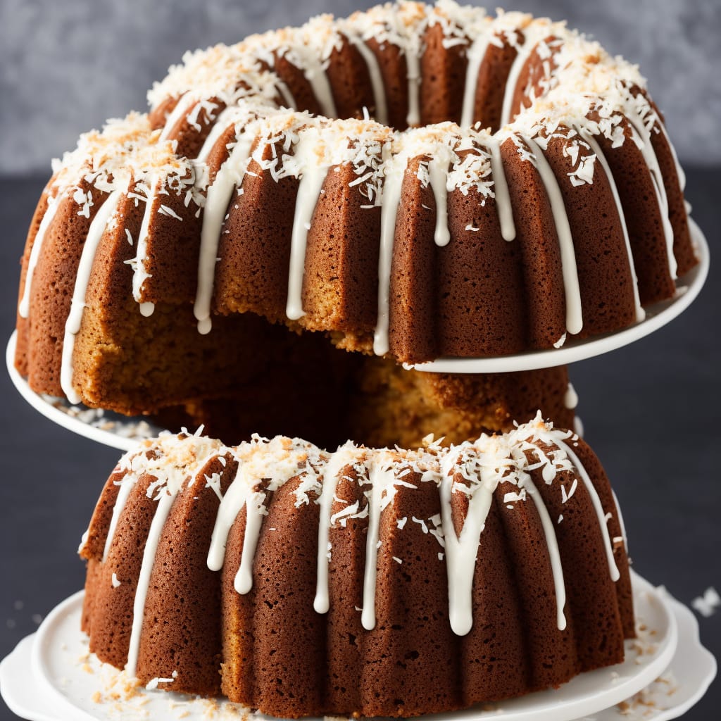
[{"label": "thin icing drip just left of the thick Y-shaped drip, lower cake", "polygon": [[368,469],[371,484],[368,496],[368,535],[366,536],[366,566],[363,570],[363,611],[361,624],[366,631],[376,627],[376,575],[378,573],[378,546],[381,527],[381,511],[385,507],[386,494],[393,487],[392,461],[383,457],[374,459]]}]

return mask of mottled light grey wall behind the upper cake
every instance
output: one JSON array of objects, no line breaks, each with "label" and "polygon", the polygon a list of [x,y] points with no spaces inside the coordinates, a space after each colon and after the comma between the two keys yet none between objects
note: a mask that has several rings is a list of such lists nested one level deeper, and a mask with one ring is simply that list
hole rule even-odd
[{"label": "mottled light grey wall behind the upper cake", "polygon": [[[184,50],[345,15],[372,0],[0,0],[0,175],[49,160],[105,118],[144,110]],[[478,3],[475,3],[478,4]],[[721,0],[508,0],[640,64],[681,160],[721,162]],[[490,7],[496,5],[489,2]]]}]

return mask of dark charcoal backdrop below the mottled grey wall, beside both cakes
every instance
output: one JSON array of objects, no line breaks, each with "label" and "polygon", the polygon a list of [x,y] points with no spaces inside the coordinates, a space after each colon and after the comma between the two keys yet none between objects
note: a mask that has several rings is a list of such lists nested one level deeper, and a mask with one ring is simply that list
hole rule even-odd
[{"label": "dark charcoal backdrop below the mottled grey wall, beside both cakes", "polygon": [[[691,170],[694,217],[719,250],[720,170]],[[17,260],[43,179],[0,180],[0,316],[14,327]],[[712,267],[689,311],[654,335],[571,368],[586,438],[606,466],[624,511],[635,568],[684,603],[721,591],[719,442],[721,283]],[[97,495],[118,451],[56,428],[0,373],[0,658],[84,580],[76,557]],[[20,607],[22,605],[22,607]],[[721,611],[699,619],[721,655]],[[721,684],[685,717],[721,717]],[[0,703],[0,720],[14,718]]]}]

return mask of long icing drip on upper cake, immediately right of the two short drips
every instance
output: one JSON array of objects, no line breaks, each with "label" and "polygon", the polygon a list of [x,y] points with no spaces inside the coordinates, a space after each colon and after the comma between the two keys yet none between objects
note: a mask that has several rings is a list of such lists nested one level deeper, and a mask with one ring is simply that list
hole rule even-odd
[{"label": "long icing drip on upper cake, immediately right of the two short drips", "polygon": [[563,273],[563,288],[566,298],[566,329],[572,335],[579,333],[583,328],[583,314],[581,311],[581,291],[578,283],[578,270],[576,269],[576,257],[573,249],[573,236],[568,224],[568,216],[563,203],[563,196],[558,187],[556,176],[548,164],[543,152],[537,143],[528,136],[522,136],[528,148],[531,150],[531,162],[541,176],[541,181],[546,187],[546,193],[551,203],[551,211],[556,226],[559,249],[561,251],[561,267]]}]

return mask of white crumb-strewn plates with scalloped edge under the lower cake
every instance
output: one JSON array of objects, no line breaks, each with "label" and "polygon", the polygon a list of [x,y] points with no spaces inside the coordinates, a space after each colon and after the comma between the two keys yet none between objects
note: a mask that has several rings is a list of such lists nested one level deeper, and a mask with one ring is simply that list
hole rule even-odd
[{"label": "white crumb-strewn plates with scalloped edge under the lower cake", "polygon": [[[425,718],[572,721],[593,714],[596,721],[627,721],[629,715],[634,718],[634,709],[638,717],[654,721],[680,716],[708,688],[716,674],[715,658],[700,645],[699,627],[689,609],[638,575],[633,576],[633,587],[637,618],[645,631],[638,641],[627,642],[624,663],[584,673],[557,690]],[[17,715],[30,721],[270,718],[229,702],[148,691],[99,663],[80,632],[82,597],[80,591],[63,601],[0,663],[0,692]]]}]

